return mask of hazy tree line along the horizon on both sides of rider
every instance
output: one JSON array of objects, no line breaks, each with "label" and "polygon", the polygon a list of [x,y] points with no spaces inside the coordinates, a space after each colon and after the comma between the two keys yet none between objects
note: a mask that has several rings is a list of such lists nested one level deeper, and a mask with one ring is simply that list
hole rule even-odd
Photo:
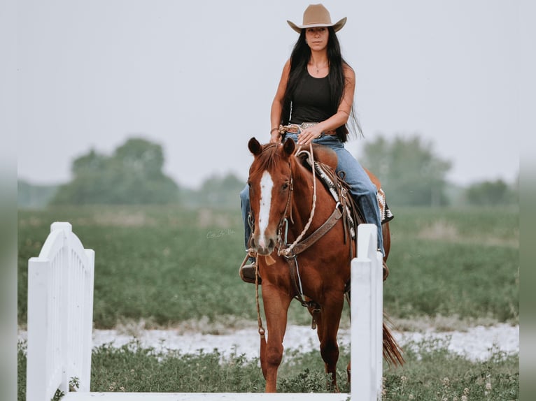
[{"label": "hazy tree line along the horizon on both sides of rider", "polygon": [[[390,207],[446,205],[514,205],[517,183],[477,182],[467,188],[446,180],[451,161],[441,159],[421,138],[378,136],[367,143],[360,163],[379,177]],[[73,178],[57,187],[19,182],[20,207],[45,205],[176,204],[239,207],[244,180],[232,174],[215,175],[199,190],[181,188],[162,172],[164,152],[157,143],[129,138],[113,154],[90,150],[75,159]]]}]

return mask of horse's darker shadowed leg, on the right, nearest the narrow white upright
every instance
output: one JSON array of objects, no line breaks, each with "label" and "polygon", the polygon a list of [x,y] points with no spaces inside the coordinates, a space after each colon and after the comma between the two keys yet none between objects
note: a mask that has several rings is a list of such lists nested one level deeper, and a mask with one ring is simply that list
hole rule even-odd
[{"label": "horse's darker shadowed leg, on the right, nearest the narrow white upright", "polygon": [[321,320],[318,324],[318,339],[320,340],[320,355],[325,363],[325,372],[331,377],[331,385],[335,391],[337,387],[337,361],[339,360],[339,345],[337,332],[341,321],[344,299],[340,292],[327,294],[322,305]]}]

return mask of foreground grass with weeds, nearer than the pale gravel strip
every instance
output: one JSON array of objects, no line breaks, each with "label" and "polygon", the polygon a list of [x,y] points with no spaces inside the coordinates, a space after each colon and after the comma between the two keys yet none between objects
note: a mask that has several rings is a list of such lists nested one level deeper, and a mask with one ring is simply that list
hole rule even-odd
[{"label": "foreground grass with weeds, nearer than the pale gravel strip", "polygon": [[[19,396],[24,400],[25,354],[19,345]],[[449,353],[446,342],[426,340],[408,347],[404,367],[384,367],[383,400],[509,401],[519,399],[519,356],[499,351],[484,362],[472,362]],[[346,361],[341,349],[337,379],[349,392]],[[113,392],[230,392],[264,391],[265,381],[257,359],[218,351],[181,354],[142,349],[132,342],[120,348],[104,345],[92,355],[91,391]],[[327,376],[318,351],[286,353],[278,374],[278,391],[325,393]]]}]

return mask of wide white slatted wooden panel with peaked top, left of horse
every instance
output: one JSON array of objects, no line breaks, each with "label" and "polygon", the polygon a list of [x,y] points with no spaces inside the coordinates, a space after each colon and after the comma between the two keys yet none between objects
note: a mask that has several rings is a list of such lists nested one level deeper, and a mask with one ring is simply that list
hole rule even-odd
[{"label": "wide white slatted wooden panel with peaked top, left of horse", "polygon": [[59,388],[90,391],[94,251],[72,226],[55,222],[28,262],[27,401],[50,400]]}]

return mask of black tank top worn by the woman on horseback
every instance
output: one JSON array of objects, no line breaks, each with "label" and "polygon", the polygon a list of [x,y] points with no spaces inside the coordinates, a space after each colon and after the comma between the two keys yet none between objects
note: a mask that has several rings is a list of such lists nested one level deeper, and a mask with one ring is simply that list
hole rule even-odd
[{"label": "black tank top worn by the woman on horseback", "polygon": [[334,114],[330,103],[330,85],[327,76],[314,78],[307,71],[292,95],[290,122],[302,124],[302,122],[324,121]]}]

